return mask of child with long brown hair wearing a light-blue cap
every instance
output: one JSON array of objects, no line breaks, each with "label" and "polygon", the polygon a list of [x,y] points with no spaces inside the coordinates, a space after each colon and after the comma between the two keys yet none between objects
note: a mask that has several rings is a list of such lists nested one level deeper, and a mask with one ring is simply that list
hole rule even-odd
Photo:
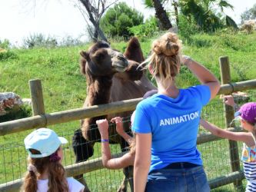
[{"label": "child with long brown hair wearing a light-blue cap", "polygon": [[28,151],[28,172],[22,191],[25,192],[80,192],[84,186],[74,178],[65,177],[62,166],[62,144],[68,141],[58,137],[55,131],[39,128],[28,134],[24,140]]}]

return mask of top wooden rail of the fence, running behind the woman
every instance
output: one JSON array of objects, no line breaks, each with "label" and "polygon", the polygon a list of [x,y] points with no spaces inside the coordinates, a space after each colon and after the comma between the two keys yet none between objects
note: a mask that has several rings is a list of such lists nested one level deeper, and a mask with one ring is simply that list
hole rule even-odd
[{"label": "top wooden rail of the fence, running behind the woman", "polygon": [[[231,94],[234,91],[244,91],[256,88],[256,79],[241,81],[232,84],[223,84],[218,94]],[[95,105],[88,108],[76,108],[67,111],[58,111],[51,114],[35,115],[31,118],[22,118],[15,121],[0,123],[0,136],[13,134],[28,129],[47,127],[52,124],[62,124],[83,118],[92,118],[104,114],[113,114],[121,111],[131,111],[142,98],[113,102],[111,104]]]}]

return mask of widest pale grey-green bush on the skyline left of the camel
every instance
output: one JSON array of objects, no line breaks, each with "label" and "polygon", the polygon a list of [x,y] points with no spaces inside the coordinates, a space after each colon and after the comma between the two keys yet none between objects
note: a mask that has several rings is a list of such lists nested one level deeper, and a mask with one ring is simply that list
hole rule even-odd
[{"label": "widest pale grey-green bush on the skyline left of the camel", "polygon": [[29,37],[23,39],[23,45],[25,48],[35,48],[35,47],[45,47],[54,48],[58,45],[57,40],[50,36],[45,37],[45,35],[34,34],[29,35]]}]

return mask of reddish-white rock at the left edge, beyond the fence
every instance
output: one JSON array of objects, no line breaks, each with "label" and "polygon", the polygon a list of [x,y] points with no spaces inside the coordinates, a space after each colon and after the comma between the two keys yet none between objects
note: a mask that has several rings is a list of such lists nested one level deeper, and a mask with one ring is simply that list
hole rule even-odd
[{"label": "reddish-white rock at the left edge, beyond the fence", "polygon": [[23,104],[22,99],[13,92],[0,93],[0,116],[17,111]]}]

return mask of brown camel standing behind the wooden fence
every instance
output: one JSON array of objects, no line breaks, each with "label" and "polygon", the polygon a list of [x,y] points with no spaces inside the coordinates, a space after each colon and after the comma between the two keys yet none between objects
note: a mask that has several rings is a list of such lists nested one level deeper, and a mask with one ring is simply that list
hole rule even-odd
[{"label": "brown camel standing behind the wooden fence", "polygon": [[[142,98],[145,92],[155,89],[151,81],[146,77],[145,70],[138,67],[144,61],[141,46],[137,38],[131,38],[128,42],[124,55],[113,50],[105,41],[98,41],[88,51],[81,51],[80,68],[87,82],[87,97],[83,107],[96,104],[108,104],[115,101],[123,101],[131,98]],[[73,148],[76,163],[87,161],[93,155],[95,142],[101,137],[96,126],[98,119],[111,119],[116,116],[129,117],[132,111],[119,114],[108,114],[106,116],[86,118],[81,121],[81,129],[75,131],[73,136]],[[128,131],[129,125],[125,124]],[[115,132],[115,127],[110,128],[109,134],[111,144],[120,144],[121,150],[125,151],[127,143]],[[129,171],[130,170],[130,171]],[[125,180],[123,180],[118,191],[126,191],[128,180],[133,187],[132,167],[125,168]],[[85,184],[83,175],[76,177]],[[89,191],[86,189],[85,191]]]}]

